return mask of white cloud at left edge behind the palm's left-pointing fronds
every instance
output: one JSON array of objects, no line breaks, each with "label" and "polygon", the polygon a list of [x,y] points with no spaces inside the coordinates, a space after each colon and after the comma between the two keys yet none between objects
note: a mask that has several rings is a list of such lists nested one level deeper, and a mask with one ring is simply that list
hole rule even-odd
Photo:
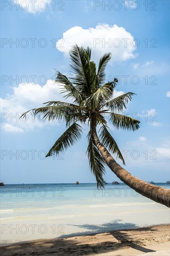
[{"label": "white cloud at left edge behind the palm's left-pointing fronds", "polygon": [[31,114],[27,115],[26,121],[20,120],[19,116],[31,108],[43,106],[46,101],[62,101],[62,97],[60,85],[53,84],[52,80],[48,80],[44,86],[28,83],[13,87],[13,94],[0,99],[2,129],[6,132],[23,132],[49,125],[48,121],[34,120]]}]

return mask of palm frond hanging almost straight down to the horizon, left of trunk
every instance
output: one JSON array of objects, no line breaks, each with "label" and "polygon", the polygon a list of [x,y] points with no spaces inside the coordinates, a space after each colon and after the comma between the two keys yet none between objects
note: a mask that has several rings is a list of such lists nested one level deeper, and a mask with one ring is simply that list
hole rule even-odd
[{"label": "palm frond hanging almost straight down to the horizon, left of trunk", "polygon": [[97,188],[102,188],[104,187],[103,175],[105,173],[106,163],[104,162],[101,154],[99,153],[98,148],[95,146],[91,131],[88,133],[88,148],[86,153],[88,153],[90,170],[96,178]]}]

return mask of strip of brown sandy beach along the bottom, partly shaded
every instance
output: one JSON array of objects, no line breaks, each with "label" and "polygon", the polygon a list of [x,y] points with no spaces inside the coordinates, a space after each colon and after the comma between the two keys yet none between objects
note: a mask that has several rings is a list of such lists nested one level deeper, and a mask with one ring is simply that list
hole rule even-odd
[{"label": "strip of brown sandy beach along the bottom, partly shaded", "polygon": [[118,230],[88,236],[34,240],[0,248],[1,256],[169,256],[170,226]]}]

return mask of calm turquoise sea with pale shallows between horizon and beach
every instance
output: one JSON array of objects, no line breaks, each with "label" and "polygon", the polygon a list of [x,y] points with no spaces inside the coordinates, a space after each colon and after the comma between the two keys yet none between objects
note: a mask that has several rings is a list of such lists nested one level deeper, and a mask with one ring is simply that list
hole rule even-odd
[{"label": "calm turquoise sea with pale shallows between horizon and beach", "polygon": [[[170,189],[170,184],[155,183]],[[170,222],[169,208],[124,183],[0,187],[1,243],[134,229]]]}]

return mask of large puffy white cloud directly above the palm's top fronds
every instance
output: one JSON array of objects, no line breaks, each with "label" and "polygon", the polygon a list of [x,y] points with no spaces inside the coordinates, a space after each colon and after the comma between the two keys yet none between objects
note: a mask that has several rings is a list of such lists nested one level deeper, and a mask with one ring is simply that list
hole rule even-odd
[{"label": "large puffy white cloud directly above the palm's top fronds", "polygon": [[[124,39],[124,40],[123,40]],[[63,33],[63,38],[57,41],[57,49],[68,54],[70,48],[77,44],[79,47],[93,48],[94,60],[107,53],[112,53],[112,61],[126,61],[136,57],[135,41],[133,36],[124,27],[117,25],[98,24],[95,28],[84,29],[82,27],[71,27]]]}]

